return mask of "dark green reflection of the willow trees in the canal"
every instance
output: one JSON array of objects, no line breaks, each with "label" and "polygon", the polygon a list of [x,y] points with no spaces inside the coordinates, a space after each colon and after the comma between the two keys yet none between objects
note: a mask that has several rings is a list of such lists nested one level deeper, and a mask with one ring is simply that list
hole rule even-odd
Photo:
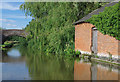
[{"label": "dark green reflection of the willow trees in the canal", "polygon": [[[73,80],[74,61],[66,60],[54,55],[29,53],[29,50],[21,49],[26,55],[29,74],[34,80]],[[23,52],[22,52],[23,51]]]}]

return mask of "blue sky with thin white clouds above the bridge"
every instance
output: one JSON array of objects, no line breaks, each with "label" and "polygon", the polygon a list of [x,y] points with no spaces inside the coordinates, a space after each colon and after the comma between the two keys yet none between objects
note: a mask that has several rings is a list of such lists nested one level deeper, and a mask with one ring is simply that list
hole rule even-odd
[{"label": "blue sky with thin white clouds above the bridge", "polygon": [[23,29],[31,21],[32,17],[25,16],[19,9],[24,2],[0,2],[0,27],[4,29]]}]

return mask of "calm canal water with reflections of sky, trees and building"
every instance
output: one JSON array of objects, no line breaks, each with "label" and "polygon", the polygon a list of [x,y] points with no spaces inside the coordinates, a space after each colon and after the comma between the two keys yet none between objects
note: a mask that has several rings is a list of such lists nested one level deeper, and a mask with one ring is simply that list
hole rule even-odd
[{"label": "calm canal water with reflections of sky, trees and building", "polygon": [[118,80],[120,75],[119,66],[29,52],[26,55],[18,47],[3,52],[0,63],[2,80]]}]

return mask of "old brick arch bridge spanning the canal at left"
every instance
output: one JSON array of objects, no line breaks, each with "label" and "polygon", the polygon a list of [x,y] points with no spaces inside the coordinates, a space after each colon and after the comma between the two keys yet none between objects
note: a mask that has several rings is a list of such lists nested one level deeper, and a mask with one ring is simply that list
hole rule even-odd
[{"label": "old brick arch bridge spanning the canal at left", "polygon": [[28,33],[26,33],[25,30],[19,30],[19,29],[0,30],[0,41],[4,42],[5,39],[9,36],[26,37],[27,35],[28,35]]}]

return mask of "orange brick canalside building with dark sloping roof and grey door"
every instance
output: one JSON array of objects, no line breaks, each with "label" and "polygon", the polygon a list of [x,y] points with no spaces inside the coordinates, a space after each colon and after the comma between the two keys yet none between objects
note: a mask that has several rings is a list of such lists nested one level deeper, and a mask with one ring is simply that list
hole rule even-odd
[{"label": "orange brick canalside building with dark sloping roof and grey door", "polygon": [[92,54],[95,53],[98,56],[109,56],[118,58],[120,55],[120,41],[109,35],[103,35],[99,32],[95,25],[85,22],[85,20],[91,18],[92,15],[103,12],[105,7],[113,6],[118,2],[111,2],[106,4],[87,16],[83,17],[79,21],[75,22],[75,50],[81,51],[81,53]]}]

